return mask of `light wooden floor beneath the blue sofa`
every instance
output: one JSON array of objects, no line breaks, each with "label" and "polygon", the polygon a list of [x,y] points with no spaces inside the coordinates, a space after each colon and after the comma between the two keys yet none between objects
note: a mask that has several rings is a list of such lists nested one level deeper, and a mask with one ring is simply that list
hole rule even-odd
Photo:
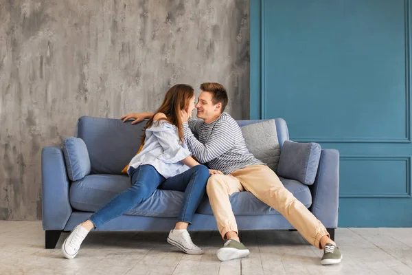
[{"label": "light wooden floor beneath the blue sofa", "polygon": [[60,252],[66,236],[45,250],[41,222],[0,221],[0,274],[412,274],[412,228],[339,228],[343,261],[333,266],[297,232],[241,232],[251,254],[222,263],[217,232],[192,234],[199,256],[166,243],[167,233],[91,232],[73,260]]}]

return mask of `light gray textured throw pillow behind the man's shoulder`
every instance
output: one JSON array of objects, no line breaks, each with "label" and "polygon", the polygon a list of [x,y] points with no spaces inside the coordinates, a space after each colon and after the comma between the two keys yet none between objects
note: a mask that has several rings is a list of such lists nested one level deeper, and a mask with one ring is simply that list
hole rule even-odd
[{"label": "light gray textured throw pillow behind the man's shoulder", "polygon": [[275,120],[244,125],[240,129],[249,152],[276,173],[280,145],[277,140]]}]

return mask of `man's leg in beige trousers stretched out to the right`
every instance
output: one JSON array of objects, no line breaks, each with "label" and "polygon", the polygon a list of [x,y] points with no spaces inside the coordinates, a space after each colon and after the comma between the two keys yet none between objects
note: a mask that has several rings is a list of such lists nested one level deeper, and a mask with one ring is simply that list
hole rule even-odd
[{"label": "man's leg in beige trousers stretched out to the right", "polygon": [[231,175],[239,179],[247,191],[279,211],[309,243],[317,248],[325,248],[327,243],[336,245],[321,221],[284,187],[271,168],[252,165]]}]

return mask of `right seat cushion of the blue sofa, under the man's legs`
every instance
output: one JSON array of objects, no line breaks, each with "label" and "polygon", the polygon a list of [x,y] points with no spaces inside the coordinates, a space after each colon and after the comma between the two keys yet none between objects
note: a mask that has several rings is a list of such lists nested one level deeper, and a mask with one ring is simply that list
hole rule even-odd
[{"label": "right seat cushion of the blue sofa, under the man's legs", "polygon": [[[284,179],[279,177],[282,184],[288,189],[301,203],[304,203],[306,208],[312,204],[312,195],[308,186],[301,184],[299,181],[293,179]],[[257,183],[258,184],[258,183]],[[251,192],[236,192],[230,196],[230,202],[235,215],[254,215],[254,214],[279,214],[270,206],[266,205]],[[213,214],[209,199],[205,198],[198,207],[198,213]]]}]

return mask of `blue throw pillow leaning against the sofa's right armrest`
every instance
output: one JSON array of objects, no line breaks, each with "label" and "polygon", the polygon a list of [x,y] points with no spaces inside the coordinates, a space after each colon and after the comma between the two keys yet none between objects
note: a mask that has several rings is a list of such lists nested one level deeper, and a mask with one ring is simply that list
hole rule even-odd
[{"label": "blue throw pillow leaning against the sofa's right armrest", "polygon": [[321,146],[319,144],[286,140],[280,155],[277,175],[311,185],[314,183],[320,158]]}]

